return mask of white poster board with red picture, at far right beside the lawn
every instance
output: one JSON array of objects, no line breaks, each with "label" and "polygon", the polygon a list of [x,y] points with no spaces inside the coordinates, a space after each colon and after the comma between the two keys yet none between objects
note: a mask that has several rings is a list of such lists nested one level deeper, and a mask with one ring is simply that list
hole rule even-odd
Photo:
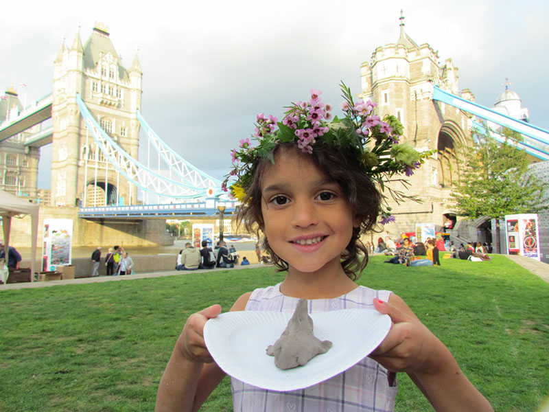
[{"label": "white poster board with red picture, at far right beside the lawn", "polygon": [[541,261],[537,214],[505,216],[506,251]]}]

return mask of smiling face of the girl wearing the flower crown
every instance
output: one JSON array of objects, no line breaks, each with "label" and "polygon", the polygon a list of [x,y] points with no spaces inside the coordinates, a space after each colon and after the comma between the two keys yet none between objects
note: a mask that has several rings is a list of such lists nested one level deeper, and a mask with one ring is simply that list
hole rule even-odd
[{"label": "smiling face of the girl wearing the flower crown", "polygon": [[263,231],[290,271],[341,269],[353,227],[351,207],[339,185],[308,155],[284,150],[261,178]]}]

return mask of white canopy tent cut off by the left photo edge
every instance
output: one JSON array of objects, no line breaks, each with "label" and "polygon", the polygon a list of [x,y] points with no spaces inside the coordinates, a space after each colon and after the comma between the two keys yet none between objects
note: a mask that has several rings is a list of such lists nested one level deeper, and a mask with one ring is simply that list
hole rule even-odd
[{"label": "white canopy tent cut off by the left photo edge", "polygon": [[13,196],[0,190],[0,216],[2,217],[2,227],[4,235],[4,250],[6,262],[8,260],[8,247],[10,245],[10,230],[12,228],[12,217],[21,214],[31,216],[31,271],[30,279],[34,282],[34,269],[36,264],[36,236],[38,235],[38,205],[24,201],[21,198]]}]

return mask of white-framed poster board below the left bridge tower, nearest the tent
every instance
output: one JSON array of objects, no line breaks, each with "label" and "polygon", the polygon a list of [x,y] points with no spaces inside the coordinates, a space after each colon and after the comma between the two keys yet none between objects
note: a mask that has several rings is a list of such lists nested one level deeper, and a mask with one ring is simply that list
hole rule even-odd
[{"label": "white-framed poster board below the left bridge tower, nearest the tent", "polygon": [[72,238],[71,219],[44,219],[43,271],[55,271],[56,266],[72,264]]}]

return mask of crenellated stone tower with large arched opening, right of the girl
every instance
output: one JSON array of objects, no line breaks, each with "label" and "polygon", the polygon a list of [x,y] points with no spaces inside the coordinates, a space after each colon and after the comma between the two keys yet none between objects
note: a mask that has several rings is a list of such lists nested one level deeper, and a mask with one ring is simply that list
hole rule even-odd
[{"label": "crenellated stone tower with large arched opening, right of the girl", "polygon": [[[402,12],[401,12],[402,13]],[[404,32],[404,16],[400,17],[400,36],[396,43],[375,49],[370,62],[361,66],[364,100],[377,102],[377,115],[393,114],[404,126],[401,143],[417,150],[438,150],[408,180],[408,194],[421,198],[423,203],[406,202],[393,207],[397,218],[391,231],[414,231],[415,223],[434,223],[439,229],[445,215],[451,214],[449,194],[452,181],[458,175],[456,148],[467,144],[472,126],[469,115],[453,106],[432,100],[433,86],[474,101],[467,90],[460,91],[458,69],[452,59],[443,65],[439,54],[430,45],[417,45]],[[395,189],[405,189],[400,183]]]}]

